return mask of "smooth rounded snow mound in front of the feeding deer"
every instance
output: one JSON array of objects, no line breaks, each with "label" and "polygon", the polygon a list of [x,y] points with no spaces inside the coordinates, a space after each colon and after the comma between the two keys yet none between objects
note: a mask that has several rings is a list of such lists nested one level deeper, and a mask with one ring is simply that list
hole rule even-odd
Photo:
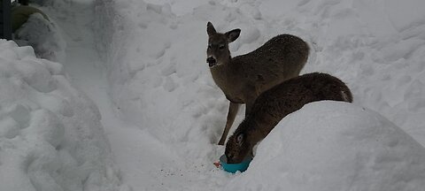
[{"label": "smooth rounded snow mound in front of the feeding deer", "polygon": [[283,118],[226,190],[421,190],[425,148],[375,111],[317,102]]}]

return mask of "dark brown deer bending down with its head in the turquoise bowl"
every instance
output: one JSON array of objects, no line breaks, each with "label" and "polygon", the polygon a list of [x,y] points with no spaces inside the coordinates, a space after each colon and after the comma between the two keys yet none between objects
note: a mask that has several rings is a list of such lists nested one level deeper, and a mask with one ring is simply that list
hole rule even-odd
[{"label": "dark brown deer bending down with its head in the turquoise bowl", "polygon": [[306,103],[320,100],[352,102],[352,93],[343,81],[326,73],[308,73],[286,80],[259,95],[251,112],[228,139],[228,163],[240,163],[252,154],[279,121]]}]

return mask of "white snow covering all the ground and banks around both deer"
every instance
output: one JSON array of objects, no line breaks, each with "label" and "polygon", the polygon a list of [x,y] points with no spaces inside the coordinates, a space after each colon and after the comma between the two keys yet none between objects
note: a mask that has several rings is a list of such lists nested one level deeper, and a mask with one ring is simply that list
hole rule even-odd
[{"label": "white snow covering all the ground and banks around both deer", "polygon": [[[419,0],[35,2],[50,18],[21,28],[35,48],[0,42],[0,190],[423,187]],[[344,80],[354,103],[308,104],[246,172],[216,169],[228,101],[205,63],[207,21],[242,29],[233,56],[298,35],[312,48],[302,73]]]}]

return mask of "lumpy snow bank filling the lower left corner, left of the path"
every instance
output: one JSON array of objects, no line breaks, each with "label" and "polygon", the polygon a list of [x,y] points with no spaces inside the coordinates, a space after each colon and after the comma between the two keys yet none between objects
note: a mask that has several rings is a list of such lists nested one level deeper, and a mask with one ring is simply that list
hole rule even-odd
[{"label": "lumpy snow bank filling the lower left corner, left of the path", "polygon": [[0,40],[0,190],[118,190],[100,114],[63,66]]}]

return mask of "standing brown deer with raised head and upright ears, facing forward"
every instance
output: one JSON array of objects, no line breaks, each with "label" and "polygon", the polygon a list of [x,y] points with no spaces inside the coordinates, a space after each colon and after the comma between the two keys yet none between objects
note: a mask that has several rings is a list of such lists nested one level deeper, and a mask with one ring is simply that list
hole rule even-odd
[{"label": "standing brown deer with raised head and upright ears, facing forward", "polygon": [[259,94],[274,85],[298,76],[307,61],[307,43],[290,34],[280,34],[259,49],[238,57],[231,57],[228,43],[234,42],[240,29],[225,34],[217,33],[208,22],[208,48],[206,62],[210,66],[214,82],[228,98],[228,118],[219,145],[228,136],[241,103],[246,103],[245,114]]}]

